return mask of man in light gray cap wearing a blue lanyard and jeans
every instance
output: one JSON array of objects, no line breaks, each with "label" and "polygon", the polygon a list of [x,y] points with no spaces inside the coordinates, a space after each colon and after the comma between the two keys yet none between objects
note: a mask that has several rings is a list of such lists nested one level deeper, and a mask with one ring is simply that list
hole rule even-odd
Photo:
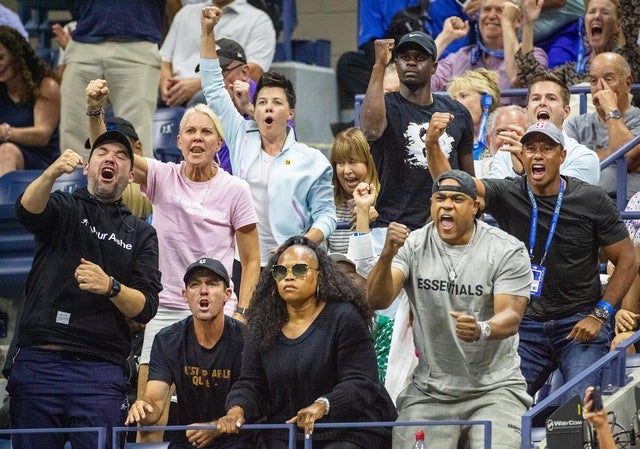
[{"label": "man in light gray cap wearing a blue lanyard and jeans", "polygon": [[[438,151],[448,121],[441,118],[426,138],[434,176],[449,169]],[[518,352],[534,395],[556,368],[568,381],[609,351],[610,318],[633,282],[636,264],[629,233],[606,192],[560,175],[566,157],[562,132],[551,122],[538,122],[521,142],[523,177],[475,183],[485,211],[529,252],[534,282]],[[600,248],[616,266],[604,292]],[[597,375],[589,376],[570,394],[582,395],[597,382]]]}]

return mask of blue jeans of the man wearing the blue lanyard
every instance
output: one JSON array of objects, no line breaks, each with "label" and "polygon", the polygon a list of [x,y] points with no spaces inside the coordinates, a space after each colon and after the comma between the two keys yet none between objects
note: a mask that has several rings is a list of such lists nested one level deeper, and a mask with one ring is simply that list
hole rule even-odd
[{"label": "blue jeans of the man wearing the blue lanyard", "polygon": [[[534,321],[523,318],[520,323],[520,368],[527,381],[527,392],[533,396],[545,383],[549,374],[560,369],[565,382],[573,379],[609,352],[611,325],[606,323],[592,341],[581,343],[567,340],[575,324],[587,317],[578,313],[560,320]],[[584,395],[589,385],[600,381],[598,372],[586,377],[567,392],[566,398]]]}]

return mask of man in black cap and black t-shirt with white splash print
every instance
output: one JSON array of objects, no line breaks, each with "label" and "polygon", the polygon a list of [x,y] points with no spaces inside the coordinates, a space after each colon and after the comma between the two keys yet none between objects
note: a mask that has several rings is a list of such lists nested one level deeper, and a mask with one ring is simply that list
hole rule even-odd
[{"label": "man in black cap and black t-shirt with white splash print", "polygon": [[[437,49],[433,39],[420,31],[405,34],[394,48],[393,39],[375,42],[376,62],[362,103],[360,127],[371,142],[371,154],[380,176],[373,223],[377,246],[384,241],[389,223],[410,229],[425,225],[433,179],[427,169],[424,134],[436,112],[450,112],[454,119],[441,137],[443,155],[453,168],[473,174],[473,123],[467,109],[457,101],[431,94]],[[383,92],[384,68],[396,60],[398,92]]]}]

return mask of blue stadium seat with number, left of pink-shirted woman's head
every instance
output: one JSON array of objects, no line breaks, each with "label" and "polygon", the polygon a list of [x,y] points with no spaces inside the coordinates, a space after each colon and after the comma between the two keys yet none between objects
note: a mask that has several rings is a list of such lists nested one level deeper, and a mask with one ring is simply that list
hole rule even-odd
[{"label": "blue stadium seat with number, left of pink-shirted woman's head", "polygon": [[153,157],[162,162],[180,162],[178,148],[180,120],[185,108],[158,108],[153,118]]}]

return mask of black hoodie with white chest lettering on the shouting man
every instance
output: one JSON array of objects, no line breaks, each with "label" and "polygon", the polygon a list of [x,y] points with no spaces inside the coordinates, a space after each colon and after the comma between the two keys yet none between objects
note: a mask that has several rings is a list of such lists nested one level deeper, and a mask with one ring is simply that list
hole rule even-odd
[{"label": "black hoodie with white chest lettering on the shouting man", "polygon": [[148,322],[162,290],[155,229],[121,202],[103,203],[86,188],[54,192],[41,214],[21,204],[20,222],[35,235],[36,251],[18,322],[18,346],[58,345],[85,357],[123,365],[130,332],[111,300],[80,290],[74,272],[84,258],[123,285],[139,290],[145,305],[134,318]]}]

